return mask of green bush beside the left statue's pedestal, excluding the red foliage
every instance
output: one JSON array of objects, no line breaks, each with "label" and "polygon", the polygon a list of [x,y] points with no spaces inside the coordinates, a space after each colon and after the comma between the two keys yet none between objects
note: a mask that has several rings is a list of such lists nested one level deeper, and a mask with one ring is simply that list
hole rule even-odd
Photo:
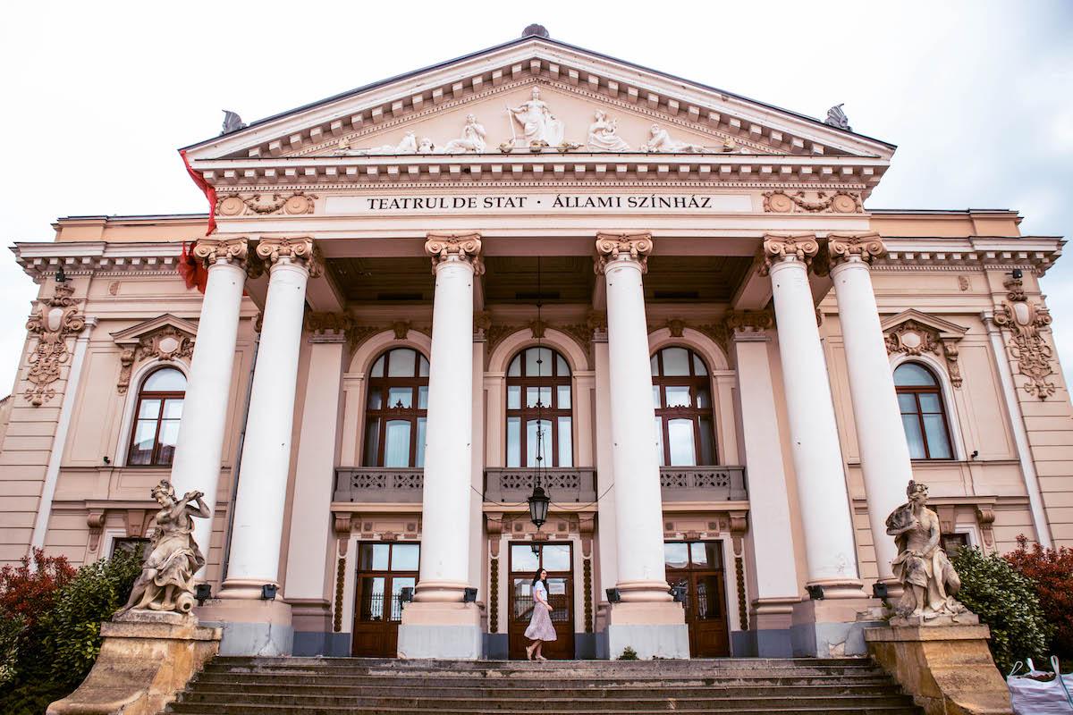
[{"label": "green bush beside the left statue's pedestal, excluding the red foliage", "polygon": [[[79,568],[32,626],[20,627],[18,614],[0,613],[0,646],[6,653],[14,643],[13,675],[6,683],[0,677],[0,713],[41,715],[78,687],[101,650],[101,621],[126,602],[141,571],[139,555],[117,553]],[[0,662],[0,672],[8,665]]]}]

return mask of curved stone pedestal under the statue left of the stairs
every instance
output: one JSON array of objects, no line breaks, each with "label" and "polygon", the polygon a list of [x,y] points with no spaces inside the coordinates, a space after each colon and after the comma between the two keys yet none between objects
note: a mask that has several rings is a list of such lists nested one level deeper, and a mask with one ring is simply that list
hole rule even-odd
[{"label": "curved stone pedestal under the statue left of the stairs", "polygon": [[156,715],[220,646],[220,629],[193,615],[130,611],[101,624],[93,669],[48,715]]}]

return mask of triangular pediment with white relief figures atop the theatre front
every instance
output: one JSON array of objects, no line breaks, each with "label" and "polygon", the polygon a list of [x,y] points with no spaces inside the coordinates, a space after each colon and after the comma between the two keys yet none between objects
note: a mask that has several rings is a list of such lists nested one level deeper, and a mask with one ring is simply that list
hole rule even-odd
[{"label": "triangular pediment with white relief figures atop the theatre front", "polygon": [[[550,119],[520,107],[532,90]],[[598,120],[617,122],[590,140]],[[251,123],[188,148],[193,161],[473,153],[466,118],[483,128],[476,153],[530,151],[533,136],[571,153],[746,153],[874,157],[894,147],[792,111],[547,38],[528,36]],[[556,124],[556,122],[558,124]],[[652,126],[657,132],[653,136]],[[528,130],[528,131],[527,131]],[[561,130],[561,131],[557,131]],[[662,134],[665,132],[665,134]],[[412,133],[412,134],[410,134]],[[469,133],[472,136],[472,132]],[[653,138],[659,146],[651,147]],[[452,140],[456,140],[451,144]]]}]

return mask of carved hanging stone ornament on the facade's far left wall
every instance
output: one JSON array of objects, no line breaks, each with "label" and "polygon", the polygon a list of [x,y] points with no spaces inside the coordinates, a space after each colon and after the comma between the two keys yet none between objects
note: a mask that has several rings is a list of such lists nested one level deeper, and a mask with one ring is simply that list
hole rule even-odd
[{"label": "carved hanging stone ornament on the facade's far left wall", "polygon": [[53,297],[41,300],[38,312],[26,323],[38,343],[27,360],[30,370],[26,379],[32,387],[26,388],[23,397],[34,407],[56,397],[53,383],[60,378],[60,366],[71,358],[67,339],[86,327],[86,316],[78,314],[73,294],[74,286],[57,283]]}]

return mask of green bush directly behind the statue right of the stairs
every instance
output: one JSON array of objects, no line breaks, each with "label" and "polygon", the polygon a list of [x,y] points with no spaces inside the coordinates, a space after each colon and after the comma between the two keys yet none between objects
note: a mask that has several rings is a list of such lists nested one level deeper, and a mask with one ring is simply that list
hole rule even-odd
[{"label": "green bush directly behind the statue right of the stairs", "polygon": [[961,577],[957,598],[990,626],[991,655],[1003,674],[1026,657],[1044,660],[1052,627],[1035,584],[998,554],[962,548],[951,558]]}]

